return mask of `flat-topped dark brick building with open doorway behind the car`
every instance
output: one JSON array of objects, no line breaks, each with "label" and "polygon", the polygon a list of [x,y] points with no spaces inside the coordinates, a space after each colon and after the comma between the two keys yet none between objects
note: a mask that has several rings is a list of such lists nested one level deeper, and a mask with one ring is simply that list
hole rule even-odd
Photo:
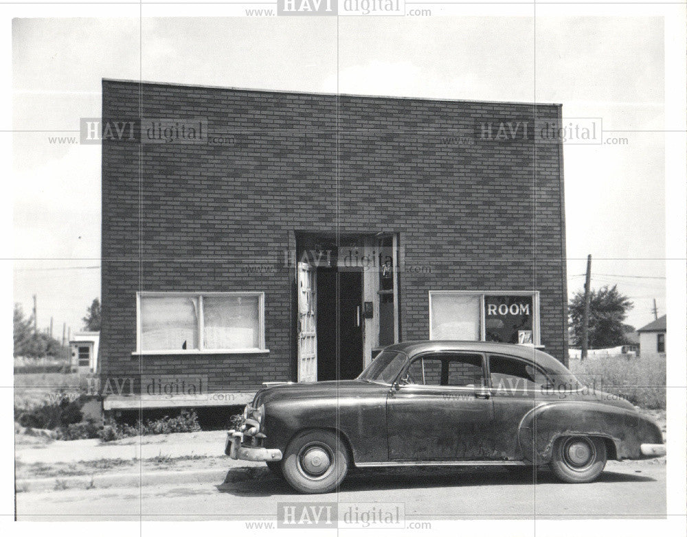
[{"label": "flat-topped dark brick building with open doorway behind the car", "polygon": [[561,106],[103,80],[102,116],[100,375],[135,377],[106,409],[430,337],[567,360],[562,146],[534,133]]}]

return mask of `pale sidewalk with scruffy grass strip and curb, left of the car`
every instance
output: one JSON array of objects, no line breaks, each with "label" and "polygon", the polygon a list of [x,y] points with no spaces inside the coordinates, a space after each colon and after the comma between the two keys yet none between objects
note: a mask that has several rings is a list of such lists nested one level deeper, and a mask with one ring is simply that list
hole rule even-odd
[{"label": "pale sidewalk with scruffy grass strip and curb, left of the car", "polygon": [[146,487],[222,483],[267,472],[262,462],[224,454],[226,431],[98,439],[16,440],[16,490],[38,492],[82,488]]}]

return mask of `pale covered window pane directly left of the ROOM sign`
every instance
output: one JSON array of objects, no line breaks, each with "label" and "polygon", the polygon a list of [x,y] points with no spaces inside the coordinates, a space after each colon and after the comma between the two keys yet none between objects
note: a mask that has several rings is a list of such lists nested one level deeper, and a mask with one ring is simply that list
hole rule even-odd
[{"label": "pale covered window pane directly left of the ROOM sign", "polygon": [[431,297],[431,339],[480,339],[480,295]]}]

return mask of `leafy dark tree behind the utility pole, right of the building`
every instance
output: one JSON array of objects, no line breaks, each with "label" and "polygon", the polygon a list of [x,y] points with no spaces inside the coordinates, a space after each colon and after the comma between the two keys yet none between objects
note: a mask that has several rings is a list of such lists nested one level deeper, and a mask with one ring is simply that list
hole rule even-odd
[{"label": "leafy dark tree behind the utility pole, right of the building", "polygon": [[[589,348],[603,349],[628,343],[627,325],[622,321],[634,307],[632,301],[620,294],[617,286],[603,286],[589,291]],[[582,344],[582,322],[585,312],[585,292],[578,291],[570,301],[570,323],[573,345]]]}]

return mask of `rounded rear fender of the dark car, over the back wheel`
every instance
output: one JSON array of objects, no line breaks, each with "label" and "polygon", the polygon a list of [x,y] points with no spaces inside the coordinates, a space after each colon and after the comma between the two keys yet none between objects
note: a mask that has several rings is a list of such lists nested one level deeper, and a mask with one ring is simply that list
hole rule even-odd
[{"label": "rounded rear fender of the dark car, over the back wheel", "polygon": [[535,464],[551,460],[556,439],[586,435],[607,439],[607,456],[640,458],[640,444],[663,442],[660,429],[638,412],[592,401],[548,402],[523,416],[518,442],[523,457]]}]

